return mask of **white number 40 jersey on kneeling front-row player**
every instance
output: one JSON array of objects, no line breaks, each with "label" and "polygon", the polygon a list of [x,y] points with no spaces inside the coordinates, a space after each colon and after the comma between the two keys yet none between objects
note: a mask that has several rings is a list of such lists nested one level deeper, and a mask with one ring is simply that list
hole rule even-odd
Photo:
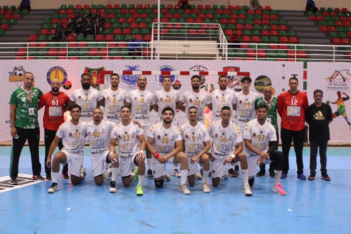
[{"label": "white number 40 jersey on kneeling front-row player", "polygon": [[115,126],[115,123],[105,120],[102,120],[99,125],[95,125],[94,121],[86,123],[85,134],[89,140],[91,156],[99,156],[109,151],[111,132]]}]

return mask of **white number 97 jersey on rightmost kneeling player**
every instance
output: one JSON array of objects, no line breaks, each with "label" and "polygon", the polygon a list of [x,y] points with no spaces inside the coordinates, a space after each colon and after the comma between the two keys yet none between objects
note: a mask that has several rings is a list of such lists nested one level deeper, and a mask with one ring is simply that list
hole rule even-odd
[{"label": "white number 97 jersey on rightmost kneeling player", "polygon": [[[270,141],[277,141],[276,129],[267,121],[264,125],[260,125],[257,122],[257,119],[254,119],[246,124],[244,139],[251,140],[251,145],[257,150],[263,152],[265,149],[268,149]],[[257,156],[256,153],[253,153],[245,146],[244,153],[247,156]]]}]

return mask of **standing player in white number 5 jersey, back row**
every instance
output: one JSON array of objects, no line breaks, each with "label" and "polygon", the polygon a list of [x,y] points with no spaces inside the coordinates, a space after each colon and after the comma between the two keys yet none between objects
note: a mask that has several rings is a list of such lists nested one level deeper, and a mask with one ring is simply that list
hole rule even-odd
[{"label": "standing player in white number 5 jersey, back row", "polygon": [[[212,110],[212,122],[221,120],[221,110],[223,106],[229,106],[233,113],[234,104],[236,104],[236,96],[234,91],[227,89],[228,79],[225,75],[218,78],[219,90],[214,90],[210,94],[211,103],[208,107]],[[232,116],[234,118],[234,115]],[[236,177],[233,166],[229,164],[228,173],[232,177]]]}]

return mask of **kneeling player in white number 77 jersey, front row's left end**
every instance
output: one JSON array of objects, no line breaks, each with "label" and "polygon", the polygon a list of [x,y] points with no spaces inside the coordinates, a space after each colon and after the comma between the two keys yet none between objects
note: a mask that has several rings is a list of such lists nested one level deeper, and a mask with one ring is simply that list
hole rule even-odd
[{"label": "kneeling player in white number 77 jersey, front row's left end", "polygon": [[77,104],[73,104],[68,108],[72,119],[63,123],[56,132],[56,137],[53,140],[46,166],[51,168],[51,156],[54,153],[57,143],[62,139],[63,148],[57,152],[52,160],[52,184],[48,193],[54,193],[58,190],[57,179],[60,170],[60,164],[65,165],[70,163],[69,173],[71,174],[71,182],[73,185],[78,185],[84,179],[86,172],[83,168],[84,159],[84,142],[85,142],[85,122],[80,121],[81,108]]}]

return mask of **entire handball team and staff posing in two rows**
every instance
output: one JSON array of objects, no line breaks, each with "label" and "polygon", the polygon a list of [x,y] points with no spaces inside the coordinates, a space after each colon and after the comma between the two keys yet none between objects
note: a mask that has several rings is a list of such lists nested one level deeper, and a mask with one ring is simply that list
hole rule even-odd
[{"label": "entire handball team and staff posing in two rows", "polygon": [[[209,92],[200,89],[199,75],[189,76],[192,88],[181,95],[172,88],[169,76],[160,80],[163,89],[150,92],[147,77],[140,75],[136,89],[127,92],[119,87],[117,73],[110,75],[110,87],[102,91],[91,86],[89,73],[83,73],[81,88],[74,90],[70,97],[60,91],[62,84],[58,79],[52,79],[51,91],[43,93],[34,87],[34,76],[31,72],[24,74],[23,84],[13,91],[9,102],[10,120],[14,123],[11,126],[12,185],[18,184],[19,159],[27,140],[33,180],[52,180],[48,193],[59,189],[60,174],[73,185],[80,184],[87,174],[83,168],[87,141],[94,181],[102,185],[111,177],[111,193],[118,192],[119,175],[124,187],[130,186],[134,179],[138,181],[138,196],[144,194],[144,178],[153,179],[155,187],[162,188],[171,176],[180,177],[179,191],[183,194],[191,194],[188,187],[197,186],[196,180],[201,181],[202,191],[209,193],[209,177],[212,186],[217,187],[221,181],[237,177],[241,169],[242,191],[245,196],[252,196],[254,178],[265,176],[269,165],[269,175],[275,178],[272,191],[287,195],[281,180],[284,184],[288,176],[292,141],[297,178],[306,180],[302,160],[305,123],[309,126],[311,151],[308,180],[316,178],[319,148],[321,179],[330,181],[326,150],[330,140],[328,125],[335,117],[330,105],[322,102],[323,91],[314,90],[314,103],[309,104],[295,76],[289,79],[287,91],[278,97],[273,96],[271,86],[264,87],[262,97],[249,91],[252,80],[248,76],[240,77],[242,90],[239,92],[227,89],[225,75],[218,77],[218,86]],[[206,107],[212,111],[208,128]],[[38,111],[41,108],[44,109],[45,178],[41,176],[39,160]],[[177,119],[177,110],[187,116],[183,125]],[[66,111],[69,120],[64,122]],[[157,113],[156,118],[151,117],[152,111]],[[279,139],[282,151],[278,151]],[[54,154],[57,146],[60,151]],[[167,163],[172,166],[171,175],[166,171]],[[60,165],[63,166],[61,173]]]}]

